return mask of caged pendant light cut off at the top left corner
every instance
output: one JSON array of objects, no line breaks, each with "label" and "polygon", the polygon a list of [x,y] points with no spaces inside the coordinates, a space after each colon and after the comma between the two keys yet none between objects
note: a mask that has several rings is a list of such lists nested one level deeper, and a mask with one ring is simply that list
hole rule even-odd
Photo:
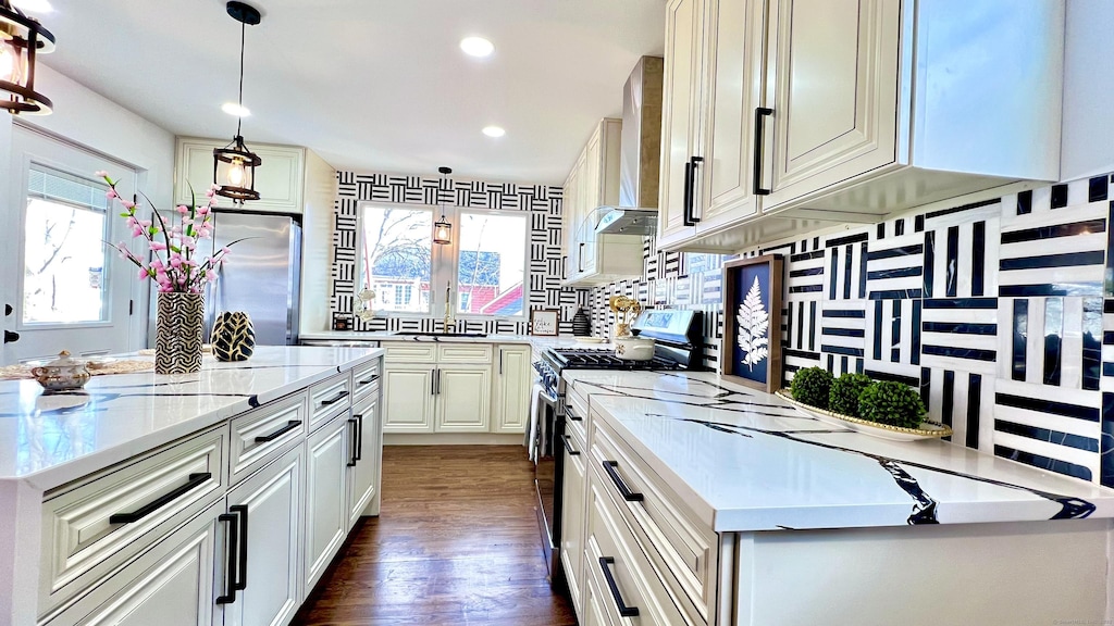
[{"label": "caged pendant light cut off at the top left corner", "polygon": [[13,115],[49,115],[53,104],[35,90],[35,58],[55,51],[55,36],[35,18],[0,0],[0,107]]}]

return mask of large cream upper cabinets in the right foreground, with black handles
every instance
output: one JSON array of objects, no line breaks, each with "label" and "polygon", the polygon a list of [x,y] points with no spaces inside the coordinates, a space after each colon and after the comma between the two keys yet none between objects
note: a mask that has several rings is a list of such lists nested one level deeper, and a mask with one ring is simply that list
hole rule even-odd
[{"label": "large cream upper cabinets in the right foreground, with black handles", "polygon": [[672,0],[658,247],[1059,177],[1055,0]]}]

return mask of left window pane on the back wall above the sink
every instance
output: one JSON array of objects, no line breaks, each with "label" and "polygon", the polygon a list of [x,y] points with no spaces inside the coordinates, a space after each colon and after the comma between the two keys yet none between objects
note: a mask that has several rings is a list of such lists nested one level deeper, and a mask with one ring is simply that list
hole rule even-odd
[{"label": "left window pane on the back wall above the sink", "polygon": [[432,213],[367,206],[362,228],[361,288],[371,288],[377,294],[372,307],[428,313]]}]

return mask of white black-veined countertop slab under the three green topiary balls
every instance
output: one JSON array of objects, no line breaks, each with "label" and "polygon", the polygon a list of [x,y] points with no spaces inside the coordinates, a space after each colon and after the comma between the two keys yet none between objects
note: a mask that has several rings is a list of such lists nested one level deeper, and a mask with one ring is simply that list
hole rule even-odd
[{"label": "white black-veined countertop slab under the three green topiary balls", "polygon": [[714,373],[565,380],[717,532],[1114,517],[1114,490],[817,420]]}]

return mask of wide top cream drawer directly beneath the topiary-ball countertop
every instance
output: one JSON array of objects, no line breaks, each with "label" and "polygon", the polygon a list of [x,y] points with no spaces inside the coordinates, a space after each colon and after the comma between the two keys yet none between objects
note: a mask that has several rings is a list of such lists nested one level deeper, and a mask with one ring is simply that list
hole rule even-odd
[{"label": "wide top cream drawer directly beneath the topiary-ball countertop", "polygon": [[605,479],[603,488],[616,503],[622,524],[665,573],[685,613],[712,622],[719,538],[694,522],[677,497],[642,458],[615,436],[598,413],[592,420],[588,463]]}]

